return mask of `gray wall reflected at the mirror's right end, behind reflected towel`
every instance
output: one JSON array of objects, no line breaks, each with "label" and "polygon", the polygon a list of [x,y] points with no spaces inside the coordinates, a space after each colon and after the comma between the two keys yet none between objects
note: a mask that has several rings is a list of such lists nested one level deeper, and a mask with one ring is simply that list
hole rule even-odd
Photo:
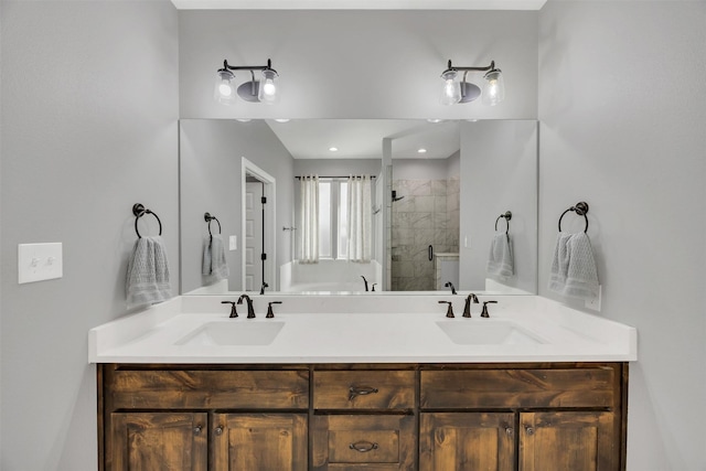
[{"label": "gray wall reflected at the mirror's right end, behind reflected towel", "polygon": [[[462,122],[461,181],[461,288],[484,289],[495,220],[511,211],[515,276],[502,282],[536,292],[537,122]],[[504,227],[505,223],[500,221],[498,229]]]}]

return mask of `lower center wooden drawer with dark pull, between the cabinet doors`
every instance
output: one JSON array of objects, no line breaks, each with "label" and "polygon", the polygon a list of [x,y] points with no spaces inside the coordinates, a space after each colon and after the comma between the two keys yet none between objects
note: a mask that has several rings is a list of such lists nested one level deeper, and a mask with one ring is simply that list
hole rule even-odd
[{"label": "lower center wooden drawer with dark pull, between the cabinet doors", "polygon": [[315,416],[313,469],[415,469],[414,416]]}]

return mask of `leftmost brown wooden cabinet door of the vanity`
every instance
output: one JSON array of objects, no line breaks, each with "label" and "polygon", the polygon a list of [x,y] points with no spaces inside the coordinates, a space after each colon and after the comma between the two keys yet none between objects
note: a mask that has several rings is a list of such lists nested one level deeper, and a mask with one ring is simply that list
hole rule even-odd
[{"label": "leftmost brown wooden cabinet door of the vanity", "polygon": [[206,414],[115,413],[106,468],[111,471],[206,471]]}]

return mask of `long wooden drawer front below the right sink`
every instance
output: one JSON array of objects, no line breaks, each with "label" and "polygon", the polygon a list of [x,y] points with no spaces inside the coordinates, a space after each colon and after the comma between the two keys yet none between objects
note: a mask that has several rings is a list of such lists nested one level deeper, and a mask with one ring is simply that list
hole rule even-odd
[{"label": "long wooden drawer front below the right sink", "polygon": [[420,407],[616,407],[618,382],[610,366],[422,371]]}]

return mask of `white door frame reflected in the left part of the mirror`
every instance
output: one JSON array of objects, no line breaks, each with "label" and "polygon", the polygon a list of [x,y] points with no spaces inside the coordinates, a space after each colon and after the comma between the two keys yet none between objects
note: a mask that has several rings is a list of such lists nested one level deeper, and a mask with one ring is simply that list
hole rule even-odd
[{"label": "white door frame reflected in the left part of the mirror", "polygon": [[[263,169],[260,169],[259,167],[257,167],[255,163],[250,162],[249,160],[247,160],[245,157],[240,158],[240,204],[242,204],[242,208],[240,208],[240,259],[243,260],[243,263],[240,264],[240,280],[242,280],[242,287],[243,287],[243,291],[245,291],[245,239],[246,239],[246,234],[245,234],[245,212],[246,212],[246,207],[245,207],[245,192],[246,192],[246,178],[247,174],[249,173],[250,175],[257,178],[260,182],[263,182],[263,194],[265,195],[265,197],[267,197],[267,207],[270,208],[269,214],[265,215],[265,233],[264,233],[264,238],[265,238],[265,244],[263,246],[263,250],[265,250],[265,254],[267,254],[267,260],[265,260],[265,278],[271,278],[271,280],[267,280],[267,283],[269,285],[269,289],[271,291],[277,291],[277,271],[276,271],[276,260],[277,260],[277,253],[276,253],[276,248],[277,248],[277,244],[276,244],[276,238],[275,238],[275,234],[277,233],[277,231],[275,229],[276,224],[277,224],[277,206],[276,206],[276,190],[277,190],[277,181],[276,179],[270,175],[269,173],[267,173],[266,171],[264,171]],[[269,275],[269,277],[267,276]]]}]

